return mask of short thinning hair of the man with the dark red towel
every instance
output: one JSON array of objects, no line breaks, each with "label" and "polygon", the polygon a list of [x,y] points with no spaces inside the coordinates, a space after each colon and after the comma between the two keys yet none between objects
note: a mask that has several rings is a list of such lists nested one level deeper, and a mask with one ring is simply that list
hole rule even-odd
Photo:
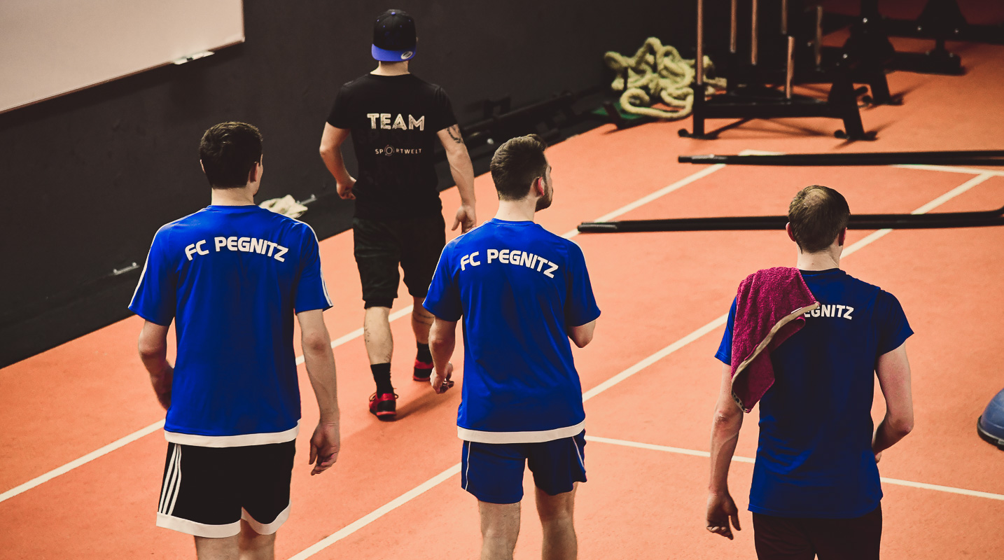
[{"label": "short thinning hair of the man with the dark red towel", "polygon": [[850,208],[843,195],[829,187],[810,185],[788,206],[788,222],[795,243],[803,253],[817,253],[830,246],[847,227]]}]

